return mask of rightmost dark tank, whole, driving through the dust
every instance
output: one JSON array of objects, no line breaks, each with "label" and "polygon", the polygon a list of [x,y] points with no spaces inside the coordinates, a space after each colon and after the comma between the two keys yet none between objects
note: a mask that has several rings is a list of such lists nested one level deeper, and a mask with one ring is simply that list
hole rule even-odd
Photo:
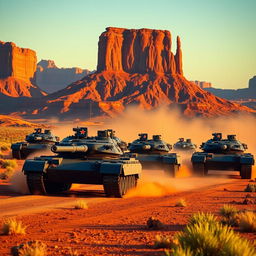
[{"label": "rightmost dark tank, whole, driving through the dust", "polygon": [[242,179],[251,179],[254,157],[245,153],[247,145],[236,139],[236,135],[222,138],[221,133],[213,133],[213,138],[202,143],[202,152],[195,152],[191,161],[194,173],[204,176],[208,170],[235,170]]}]

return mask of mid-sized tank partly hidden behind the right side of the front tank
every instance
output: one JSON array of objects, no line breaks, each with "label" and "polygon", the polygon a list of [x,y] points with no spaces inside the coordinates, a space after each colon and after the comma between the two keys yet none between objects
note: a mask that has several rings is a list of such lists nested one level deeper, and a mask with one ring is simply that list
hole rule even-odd
[{"label": "mid-sized tank partly hidden behind the right side of the front tank", "polygon": [[172,146],[163,141],[161,135],[153,135],[152,139],[148,139],[147,133],[138,136],[128,145],[128,149],[137,154],[143,169],[163,169],[166,174],[175,177],[180,163],[176,153],[169,153]]}]

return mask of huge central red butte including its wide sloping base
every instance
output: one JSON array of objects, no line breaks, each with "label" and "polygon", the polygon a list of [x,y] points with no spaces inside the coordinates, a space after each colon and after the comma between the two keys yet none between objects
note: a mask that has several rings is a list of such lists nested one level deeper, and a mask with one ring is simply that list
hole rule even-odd
[{"label": "huge central red butte including its wide sloping base", "polygon": [[253,112],[187,81],[180,38],[173,54],[169,31],[107,28],[98,46],[97,71],[47,96],[34,113],[59,118],[114,116],[134,105],[175,106],[187,116]]}]

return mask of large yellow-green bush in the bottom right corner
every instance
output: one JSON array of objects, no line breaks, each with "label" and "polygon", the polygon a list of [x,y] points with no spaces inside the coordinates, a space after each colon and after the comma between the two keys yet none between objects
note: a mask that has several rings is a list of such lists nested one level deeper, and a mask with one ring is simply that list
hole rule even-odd
[{"label": "large yellow-green bush in the bottom right corner", "polygon": [[255,248],[236,234],[230,227],[221,223],[196,223],[187,225],[176,235],[179,247],[191,250],[194,256],[253,256]]}]

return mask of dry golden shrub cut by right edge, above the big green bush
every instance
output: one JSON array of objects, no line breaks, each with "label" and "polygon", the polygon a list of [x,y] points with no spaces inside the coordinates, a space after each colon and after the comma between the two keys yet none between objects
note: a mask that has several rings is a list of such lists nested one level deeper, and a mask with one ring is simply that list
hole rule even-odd
[{"label": "dry golden shrub cut by right edge, above the big green bush", "polygon": [[239,213],[238,226],[241,231],[256,232],[256,213],[252,211]]}]

